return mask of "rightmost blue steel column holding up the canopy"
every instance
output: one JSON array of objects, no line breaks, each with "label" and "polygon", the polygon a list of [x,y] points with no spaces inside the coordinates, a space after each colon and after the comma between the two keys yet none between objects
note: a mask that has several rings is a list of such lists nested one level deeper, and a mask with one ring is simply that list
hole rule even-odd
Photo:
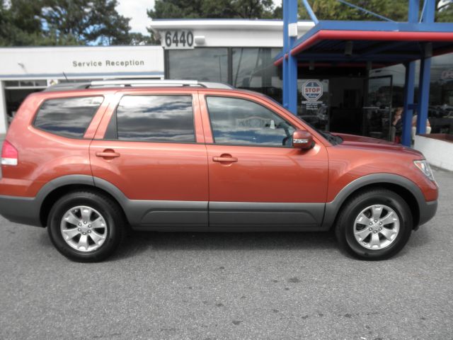
[{"label": "rightmost blue steel column holding up the canopy", "polygon": [[[421,18],[423,23],[434,23],[435,6],[435,0],[425,0],[425,8]],[[429,44],[425,45],[424,53],[423,59],[420,60],[420,80],[418,81],[420,99],[418,101],[417,134],[426,133],[426,120],[428,119],[432,55]]]}]

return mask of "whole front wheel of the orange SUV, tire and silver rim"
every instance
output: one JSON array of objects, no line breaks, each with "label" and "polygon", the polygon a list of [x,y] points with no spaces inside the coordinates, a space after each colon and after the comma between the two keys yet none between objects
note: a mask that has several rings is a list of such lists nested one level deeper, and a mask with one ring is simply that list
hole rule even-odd
[{"label": "whole front wheel of the orange SUV, tire and silver rim", "polygon": [[373,189],[353,196],[340,212],[336,237],[348,253],[364,260],[394,256],[413,229],[411,210],[393,191]]}]

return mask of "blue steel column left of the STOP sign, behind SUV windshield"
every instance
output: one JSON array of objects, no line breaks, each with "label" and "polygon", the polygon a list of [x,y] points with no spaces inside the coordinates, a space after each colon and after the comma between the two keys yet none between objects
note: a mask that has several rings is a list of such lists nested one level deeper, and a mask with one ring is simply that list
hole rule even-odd
[{"label": "blue steel column left of the STOP sign, behind SUV windshield", "polygon": [[[287,13],[288,23],[297,23],[297,0],[289,0]],[[288,48],[288,110],[297,115],[297,57],[291,55],[292,47],[297,37],[289,37]]]}]

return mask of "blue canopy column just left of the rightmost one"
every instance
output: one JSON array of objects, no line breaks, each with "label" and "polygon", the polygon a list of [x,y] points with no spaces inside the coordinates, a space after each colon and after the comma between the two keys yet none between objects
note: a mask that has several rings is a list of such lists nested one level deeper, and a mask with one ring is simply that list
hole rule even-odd
[{"label": "blue canopy column just left of the rightmost one", "polygon": [[[418,22],[418,8],[420,0],[409,0],[408,22]],[[401,144],[406,147],[411,146],[412,142],[412,117],[413,117],[413,97],[415,87],[415,62],[408,62],[406,67],[406,77],[404,84],[404,115],[403,115],[403,134]]]}]

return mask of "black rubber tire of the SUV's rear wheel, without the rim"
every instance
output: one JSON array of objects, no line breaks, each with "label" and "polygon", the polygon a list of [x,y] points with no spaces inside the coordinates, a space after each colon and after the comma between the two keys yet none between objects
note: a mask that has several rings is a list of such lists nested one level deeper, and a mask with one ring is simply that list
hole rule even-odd
[{"label": "black rubber tire of the SUV's rear wheel, without the rim", "polygon": [[[88,206],[99,212],[105,220],[105,240],[93,251],[79,251],[64,241],[60,225],[64,214],[79,205]],[[98,262],[110,256],[125,234],[125,218],[119,205],[110,197],[91,191],[73,191],[52,206],[47,220],[47,231],[55,248],[68,259],[77,262]],[[91,242],[93,242],[91,240]],[[95,244],[96,246],[96,244]],[[87,249],[88,250],[88,249]]]}]

